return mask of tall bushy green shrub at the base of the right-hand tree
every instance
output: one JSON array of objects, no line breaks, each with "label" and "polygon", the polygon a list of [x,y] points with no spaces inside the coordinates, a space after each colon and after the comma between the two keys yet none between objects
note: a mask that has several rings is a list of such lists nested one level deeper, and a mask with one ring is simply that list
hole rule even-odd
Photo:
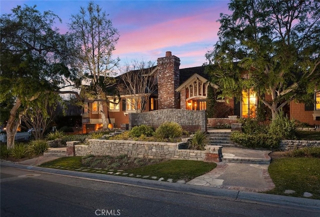
[{"label": "tall bushy green shrub at the base of the right-hand tree", "polygon": [[269,134],[280,139],[295,139],[294,120],[289,120],[287,116],[280,111],[269,125]]}]

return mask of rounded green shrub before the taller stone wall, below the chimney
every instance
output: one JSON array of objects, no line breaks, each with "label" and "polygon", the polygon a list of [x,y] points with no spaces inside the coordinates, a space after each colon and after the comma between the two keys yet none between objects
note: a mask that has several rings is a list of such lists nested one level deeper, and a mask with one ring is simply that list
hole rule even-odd
[{"label": "rounded green shrub before the taller stone wall, below the chimney", "polygon": [[175,122],[165,122],[155,130],[155,136],[160,139],[174,139],[182,136],[182,127]]}]

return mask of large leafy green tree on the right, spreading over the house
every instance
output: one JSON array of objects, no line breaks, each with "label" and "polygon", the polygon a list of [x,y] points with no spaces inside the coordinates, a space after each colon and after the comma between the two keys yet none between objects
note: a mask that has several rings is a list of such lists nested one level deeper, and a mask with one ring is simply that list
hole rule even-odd
[{"label": "large leafy green tree on the right, spreading over the house", "polygon": [[[212,82],[227,97],[251,89],[272,112],[310,102],[320,81],[320,2],[252,0],[220,14],[219,41],[206,54]],[[265,96],[270,96],[268,100]]]}]

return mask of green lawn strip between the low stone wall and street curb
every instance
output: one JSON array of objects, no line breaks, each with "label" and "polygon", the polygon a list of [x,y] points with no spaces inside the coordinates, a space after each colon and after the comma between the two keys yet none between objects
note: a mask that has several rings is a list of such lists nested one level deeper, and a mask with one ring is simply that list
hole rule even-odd
[{"label": "green lawn strip between the low stone wall and street curb", "polygon": [[[41,164],[42,167],[56,168],[56,169],[67,169],[76,170],[83,172],[93,172],[93,173],[104,173],[116,172],[116,169],[101,169],[101,168],[90,168],[81,164],[81,157],[61,157],[46,163]],[[193,160],[168,160],[160,163],[155,163],[147,166],[141,166],[138,168],[122,169],[121,174],[132,177],[136,175],[146,176],[151,178],[156,176],[158,178],[163,177],[164,180],[172,178],[173,181],[185,180],[189,181],[199,175],[211,171],[216,167],[216,163],[209,163],[203,161],[193,161]]]}]

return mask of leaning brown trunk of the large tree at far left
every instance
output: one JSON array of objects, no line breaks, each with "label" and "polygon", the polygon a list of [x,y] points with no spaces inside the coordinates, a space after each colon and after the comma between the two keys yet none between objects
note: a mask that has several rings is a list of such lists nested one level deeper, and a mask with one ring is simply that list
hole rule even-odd
[{"label": "leaning brown trunk of the large tree at far left", "polygon": [[16,99],[16,102],[12,109],[10,110],[10,116],[6,124],[6,147],[11,149],[14,147],[14,136],[16,134],[16,130],[21,124],[21,115],[18,112],[19,107],[21,106],[21,101]]}]

